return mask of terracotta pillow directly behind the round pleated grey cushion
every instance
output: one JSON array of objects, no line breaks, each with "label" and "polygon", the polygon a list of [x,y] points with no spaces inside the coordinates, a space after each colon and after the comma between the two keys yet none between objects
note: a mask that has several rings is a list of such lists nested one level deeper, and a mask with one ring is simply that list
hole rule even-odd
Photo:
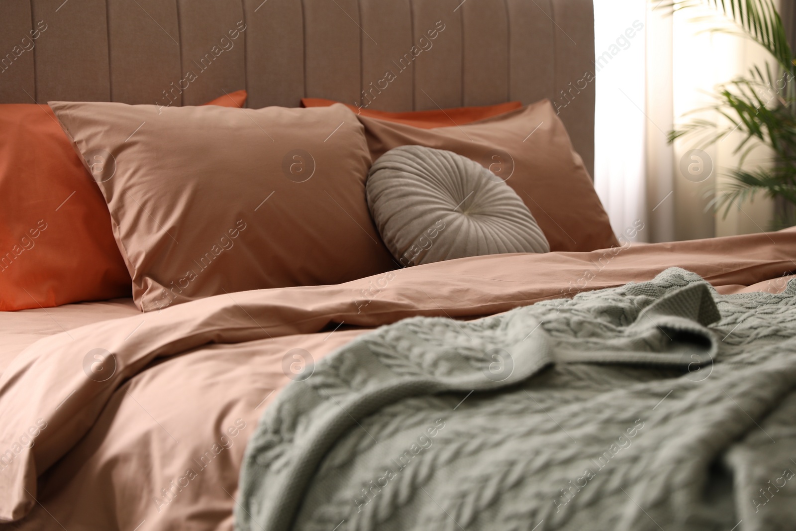
[{"label": "terracotta pillow directly behind the round pleated grey cushion", "polygon": [[618,245],[564,123],[548,100],[458,127],[420,129],[357,116],[371,157],[416,144],[448,150],[489,168],[511,186],[547,236],[551,251],[593,251]]}]

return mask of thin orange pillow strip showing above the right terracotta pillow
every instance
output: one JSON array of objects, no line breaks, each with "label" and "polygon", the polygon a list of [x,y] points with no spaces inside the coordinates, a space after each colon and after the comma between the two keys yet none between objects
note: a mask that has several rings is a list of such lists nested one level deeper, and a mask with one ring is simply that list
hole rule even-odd
[{"label": "thin orange pillow strip showing above the right terracotta pillow", "polygon": [[[302,107],[329,107],[334,103],[338,102],[323,100],[322,98],[302,98],[301,100]],[[507,103],[497,103],[497,105],[486,105],[485,107],[455,107],[436,111],[387,112],[373,111],[365,107],[357,107],[356,105],[348,105],[347,103],[344,104],[360,116],[383,119],[388,122],[404,123],[405,125],[411,125],[412,127],[419,127],[421,129],[433,129],[434,127],[449,127],[462,125],[464,123],[473,123],[522,107],[522,103],[518,101],[509,101]]]}]

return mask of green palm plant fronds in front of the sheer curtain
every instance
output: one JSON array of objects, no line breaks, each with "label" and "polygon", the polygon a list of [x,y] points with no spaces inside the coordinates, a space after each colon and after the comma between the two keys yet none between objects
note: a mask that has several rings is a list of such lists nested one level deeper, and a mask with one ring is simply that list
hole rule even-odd
[{"label": "green palm plant fronds in front of the sheer curtain", "polygon": [[[743,135],[735,150],[741,155],[739,167],[728,172],[728,185],[712,200],[716,209],[724,209],[725,217],[732,206],[757,193],[796,205],[796,61],[782,19],[771,0],[681,0],[669,4],[675,11],[695,6],[708,6],[724,14],[736,29],[767,49],[775,61],[773,67],[766,63],[763,69],[751,68],[748,76],[720,85],[714,94],[715,103],[694,111],[716,111],[724,117],[721,124],[691,119],[669,132],[669,143],[689,137],[704,148],[734,131]],[[737,33],[726,27],[711,31]],[[744,170],[748,155],[761,145],[769,146],[775,154],[771,168]],[[794,222],[778,220],[778,225]]]}]

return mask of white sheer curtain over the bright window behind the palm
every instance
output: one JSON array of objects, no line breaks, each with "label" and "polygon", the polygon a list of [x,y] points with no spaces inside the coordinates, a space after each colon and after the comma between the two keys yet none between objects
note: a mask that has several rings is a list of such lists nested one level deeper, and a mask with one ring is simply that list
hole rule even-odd
[{"label": "white sheer curtain over the bright window behind the palm", "polygon": [[[595,188],[621,235],[644,224],[636,241],[688,240],[759,232],[771,221],[763,197],[732,209],[727,219],[706,211],[720,174],[736,165],[736,139],[708,150],[712,174],[689,178],[681,166],[696,161],[693,140],[666,143],[673,123],[704,107],[716,84],[762,64],[765,53],[739,37],[707,33],[712,22],[684,11],[671,15],[668,0],[595,0]],[[655,9],[655,8],[658,9]],[[641,26],[641,29],[638,27]],[[602,58],[602,60],[601,60]],[[759,158],[765,158],[761,151]],[[685,166],[684,166],[685,165]],[[631,231],[632,233],[632,231]]]}]

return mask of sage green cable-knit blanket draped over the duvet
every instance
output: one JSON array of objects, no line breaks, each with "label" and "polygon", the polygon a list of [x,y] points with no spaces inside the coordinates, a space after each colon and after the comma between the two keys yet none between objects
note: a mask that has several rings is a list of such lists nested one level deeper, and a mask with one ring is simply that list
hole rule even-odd
[{"label": "sage green cable-knit blanket draped over the duvet", "polygon": [[796,529],[796,283],[409,318],[263,414],[236,529]]}]

